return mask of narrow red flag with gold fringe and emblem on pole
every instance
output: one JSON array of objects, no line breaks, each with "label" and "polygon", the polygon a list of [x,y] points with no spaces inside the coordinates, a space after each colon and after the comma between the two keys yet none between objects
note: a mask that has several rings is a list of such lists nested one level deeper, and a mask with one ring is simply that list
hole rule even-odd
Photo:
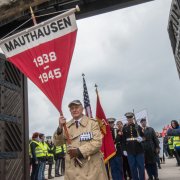
[{"label": "narrow red flag with gold fringe and emblem on pole", "polygon": [[109,123],[106,119],[106,116],[104,114],[104,111],[102,109],[99,100],[98,92],[97,92],[97,105],[96,105],[96,119],[99,122],[99,126],[103,134],[101,151],[104,154],[104,161],[105,163],[107,163],[108,160],[116,154],[116,150],[115,150]]}]

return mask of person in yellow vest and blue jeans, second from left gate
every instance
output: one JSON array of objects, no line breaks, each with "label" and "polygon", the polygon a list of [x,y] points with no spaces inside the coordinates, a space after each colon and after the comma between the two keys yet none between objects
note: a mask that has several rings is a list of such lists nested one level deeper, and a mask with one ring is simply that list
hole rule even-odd
[{"label": "person in yellow vest and blue jeans, second from left gate", "polygon": [[39,171],[38,171],[38,180],[45,180],[45,167],[46,167],[46,160],[48,156],[48,145],[44,142],[45,140],[45,135],[40,133],[39,134],[39,144],[42,150],[42,154],[40,157],[38,157],[39,161]]}]

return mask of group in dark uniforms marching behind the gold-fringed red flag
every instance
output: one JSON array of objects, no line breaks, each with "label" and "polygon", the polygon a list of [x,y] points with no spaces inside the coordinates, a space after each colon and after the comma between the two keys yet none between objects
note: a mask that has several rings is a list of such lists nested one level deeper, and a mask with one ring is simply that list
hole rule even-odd
[{"label": "group in dark uniforms marching behind the gold-fringed red flag", "polygon": [[[117,121],[117,129],[114,128],[115,119],[108,119],[118,152],[110,159],[110,165],[119,167],[119,171],[111,169],[112,179],[144,180],[146,169],[149,180],[158,180],[157,159],[159,159],[160,146],[154,129],[147,126],[145,118],[140,120],[141,126],[135,123],[132,112],[126,113],[125,116],[127,123],[123,125],[121,121]],[[117,156],[124,166],[116,164],[114,159]]]}]

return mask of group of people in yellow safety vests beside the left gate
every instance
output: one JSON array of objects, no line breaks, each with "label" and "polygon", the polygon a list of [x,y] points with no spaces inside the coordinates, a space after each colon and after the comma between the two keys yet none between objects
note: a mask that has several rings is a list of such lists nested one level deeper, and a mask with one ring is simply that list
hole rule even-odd
[{"label": "group of people in yellow safety vests beside the left gate", "polygon": [[[54,138],[56,133],[54,134]],[[29,143],[31,180],[45,180],[45,167],[48,165],[48,179],[53,179],[52,166],[55,162],[55,177],[65,171],[66,144],[52,140],[45,141],[42,133],[35,132]]]}]

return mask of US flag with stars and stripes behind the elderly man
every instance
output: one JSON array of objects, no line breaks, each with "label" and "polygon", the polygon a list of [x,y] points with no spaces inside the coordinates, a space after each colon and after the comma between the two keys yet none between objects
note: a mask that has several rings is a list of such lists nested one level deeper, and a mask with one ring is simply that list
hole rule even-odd
[{"label": "US flag with stars and stripes behind the elderly man", "polygon": [[84,109],[86,112],[86,116],[92,118],[92,111],[91,111],[91,105],[90,105],[90,100],[89,100],[89,94],[88,94],[88,90],[87,90],[87,86],[86,86],[86,81],[84,78],[84,74],[82,74],[83,76],[83,97],[84,97]]}]

